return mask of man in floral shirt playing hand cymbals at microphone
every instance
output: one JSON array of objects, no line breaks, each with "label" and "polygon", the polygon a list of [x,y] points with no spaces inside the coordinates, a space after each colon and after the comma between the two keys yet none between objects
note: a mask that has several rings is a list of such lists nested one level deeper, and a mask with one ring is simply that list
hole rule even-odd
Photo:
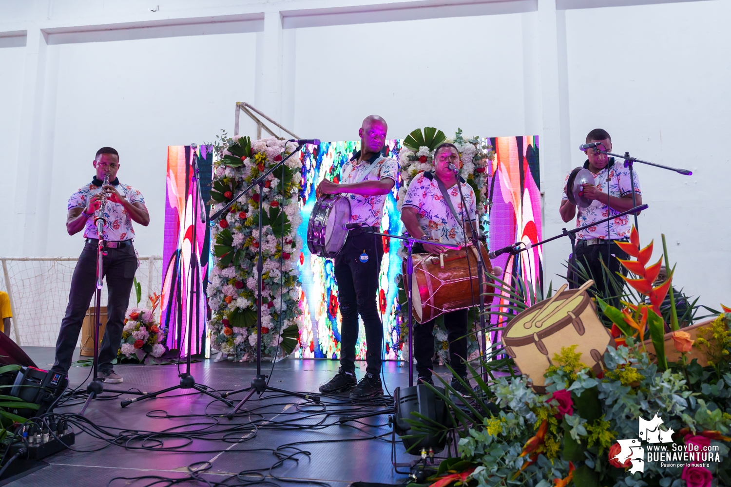
[{"label": "man in floral shirt playing hand cymbals at microphone", "polygon": [[[586,136],[586,143],[589,142],[599,142],[600,145],[597,147],[599,150],[612,151],[612,138],[603,129],[594,129],[589,132]],[[569,173],[564,181],[564,194],[559,210],[561,218],[565,222],[571,221],[577,214],[577,227],[604,220],[612,214],[616,215],[630,210],[634,206],[629,168],[624,167],[624,164],[615,161],[614,158],[597,152],[596,149],[588,149],[585,152],[588,158],[584,163],[584,168],[591,171],[591,174],[594,175],[594,183],[596,183],[595,185],[583,185],[583,196],[591,200],[591,204],[586,208],[579,207],[577,214],[577,206],[569,202],[566,193]],[[637,178],[636,171],[634,177],[635,202],[640,205],[642,204],[642,193],[640,193],[640,180]],[[577,266],[583,266],[587,275],[584,275],[583,272],[569,272],[569,285],[577,288],[586,282],[586,277],[589,277],[595,283],[592,292],[602,299],[609,299],[611,304],[617,306],[618,296],[621,295],[624,285],[624,281],[618,278],[617,272],[623,272],[626,275],[626,269],[619,264],[617,259],[626,259],[629,256],[615,242],[616,240],[626,242],[631,231],[632,223],[629,221],[629,215],[624,215],[578,232],[576,235],[576,263]],[[604,266],[609,269],[609,272]]]}]

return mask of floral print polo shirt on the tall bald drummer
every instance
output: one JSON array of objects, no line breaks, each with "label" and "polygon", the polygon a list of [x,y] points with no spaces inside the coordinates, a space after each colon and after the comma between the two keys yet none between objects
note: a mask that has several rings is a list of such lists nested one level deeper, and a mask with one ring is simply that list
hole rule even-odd
[{"label": "floral print polo shirt on the tall bald drummer", "polygon": [[[359,157],[360,151],[355,153],[349,161],[343,164],[343,168],[341,169],[341,183],[355,183],[361,176],[361,173],[368,169],[368,166],[371,166],[377,158],[382,158],[382,160],[371,169],[368,175],[361,178],[360,181],[378,181],[388,177],[395,183],[396,175],[398,175],[398,163],[395,159],[376,154],[369,161],[360,161],[358,163]],[[363,226],[375,226],[376,228],[381,227],[383,205],[386,202],[387,194],[366,196],[363,194],[342,193],[342,196],[346,196],[350,200],[351,223],[360,223]]]}]

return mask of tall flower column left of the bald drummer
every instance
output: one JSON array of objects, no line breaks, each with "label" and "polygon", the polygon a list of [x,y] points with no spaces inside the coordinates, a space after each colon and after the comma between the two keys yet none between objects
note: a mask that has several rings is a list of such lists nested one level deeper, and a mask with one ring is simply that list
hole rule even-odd
[{"label": "tall flower column left of the bald drummer", "polygon": [[[213,162],[211,215],[252,180],[295,150],[291,142],[270,137],[219,138]],[[237,361],[251,361],[257,346],[257,251],[262,248],[262,353],[286,356],[298,345],[297,318],[301,314],[298,267],[292,258],[302,240],[295,231],[301,223],[298,192],[302,162],[287,159],[262,188],[235,202],[213,222],[213,272],[208,283],[208,322],[211,347]],[[263,233],[259,240],[259,208]],[[278,349],[281,348],[281,352]]]}]

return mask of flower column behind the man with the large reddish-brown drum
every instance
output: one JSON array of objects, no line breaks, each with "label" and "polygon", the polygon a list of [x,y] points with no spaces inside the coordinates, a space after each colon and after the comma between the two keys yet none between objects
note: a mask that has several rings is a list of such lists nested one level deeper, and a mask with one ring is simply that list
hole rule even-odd
[{"label": "flower column behind the man with the large reddish-brown drum", "polygon": [[[457,147],[462,161],[460,170],[461,176],[472,186],[477,199],[477,221],[483,220],[488,212],[488,161],[495,158],[495,151],[492,145],[486,142],[486,139],[480,137],[465,138],[462,135],[462,129],[458,129],[453,139],[447,138],[444,132],[434,129],[433,127],[425,127],[425,129],[416,129],[404,139],[399,153],[399,162],[401,164],[401,180],[403,184],[398,191],[398,210],[404,204],[406,191],[409,188],[411,180],[420,172],[433,171],[434,150],[444,142],[451,142]],[[399,251],[401,258],[406,258],[406,250],[401,248]],[[406,340],[408,329],[408,315],[406,314],[406,293],[403,291],[403,285],[399,275],[398,283],[401,287],[401,310],[399,311],[399,319],[401,320],[401,337]],[[477,320],[477,313],[470,312],[469,323]],[[435,350],[439,355],[439,360],[446,364],[449,361],[449,345],[447,343],[447,329],[444,326],[443,318],[436,318],[436,326],[434,326]],[[406,350],[406,349],[402,349]],[[469,360],[480,356],[480,345],[474,337],[469,337],[467,341],[467,353]]]}]

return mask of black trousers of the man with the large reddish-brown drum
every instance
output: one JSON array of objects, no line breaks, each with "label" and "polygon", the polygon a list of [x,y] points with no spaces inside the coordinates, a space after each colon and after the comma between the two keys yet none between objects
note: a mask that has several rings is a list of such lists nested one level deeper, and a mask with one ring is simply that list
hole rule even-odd
[{"label": "black trousers of the man with the large reddish-brown drum", "polygon": [[[444,327],[447,328],[447,342],[450,347],[450,366],[460,377],[466,377],[467,366],[467,312],[457,310],[444,313]],[[414,323],[414,358],[419,377],[431,377],[434,356],[434,337],[432,331],[436,319],[426,323]]]}]

